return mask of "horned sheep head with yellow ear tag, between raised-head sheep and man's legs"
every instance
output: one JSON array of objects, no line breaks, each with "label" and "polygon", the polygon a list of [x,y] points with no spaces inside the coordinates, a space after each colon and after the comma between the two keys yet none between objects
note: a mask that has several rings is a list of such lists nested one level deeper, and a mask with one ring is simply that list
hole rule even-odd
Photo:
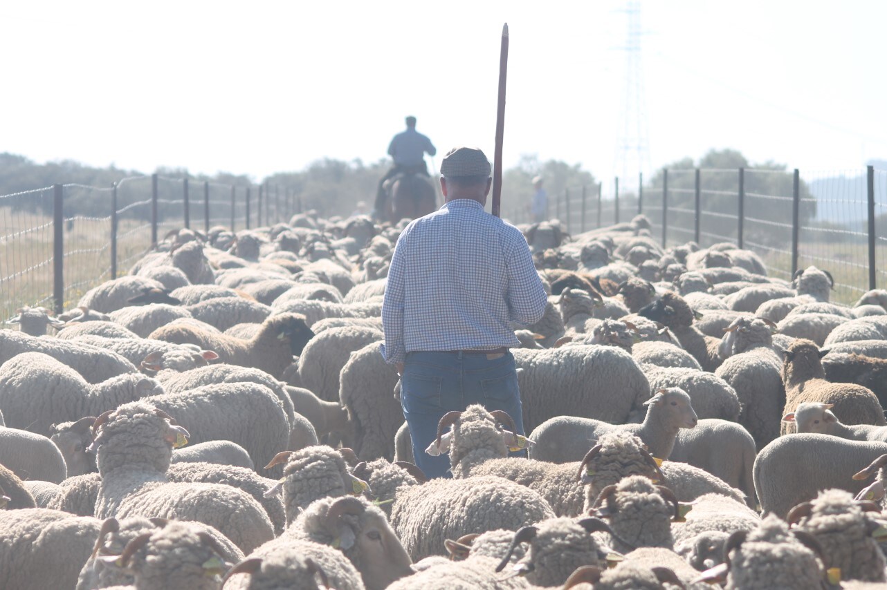
[{"label": "horned sheep head with yellow ear tag, between raised-head sheep and man's legs", "polygon": [[315,500],[359,494],[367,489],[364,481],[349,473],[343,456],[345,450],[339,452],[325,445],[309,446],[299,451],[278,453],[268,463],[266,469],[285,464],[283,478],[268,493],[276,496],[283,490],[287,525]]}]

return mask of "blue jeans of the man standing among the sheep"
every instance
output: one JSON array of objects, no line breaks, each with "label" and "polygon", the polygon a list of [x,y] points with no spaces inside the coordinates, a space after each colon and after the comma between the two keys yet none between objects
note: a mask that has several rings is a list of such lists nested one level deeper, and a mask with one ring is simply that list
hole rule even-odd
[{"label": "blue jeans of the man standing among the sheep", "polygon": [[[400,404],[412,438],[412,456],[428,477],[452,477],[450,455],[425,452],[437,436],[437,423],[451,410],[481,404],[505,410],[523,434],[521,393],[514,356],[487,354],[408,353],[401,377]],[[514,456],[526,456],[521,451]]]}]

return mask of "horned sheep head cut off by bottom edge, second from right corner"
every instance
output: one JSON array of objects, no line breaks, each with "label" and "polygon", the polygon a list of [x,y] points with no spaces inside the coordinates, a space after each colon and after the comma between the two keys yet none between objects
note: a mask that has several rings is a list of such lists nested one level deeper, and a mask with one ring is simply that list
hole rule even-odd
[{"label": "horned sheep head cut off by bottom edge, second from right corner", "polygon": [[804,532],[767,516],[754,531],[735,532],[727,540],[726,563],[703,572],[700,580],[726,575],[726,588],[788,588],[805,590],[824,585],[822,551]]}]

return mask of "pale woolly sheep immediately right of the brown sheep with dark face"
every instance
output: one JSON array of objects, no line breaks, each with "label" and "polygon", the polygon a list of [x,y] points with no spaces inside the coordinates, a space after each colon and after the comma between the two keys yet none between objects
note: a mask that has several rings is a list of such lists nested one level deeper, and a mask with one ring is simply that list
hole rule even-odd
[{"label": "pale woolly sheep immediately right of the brown sheep with dark face", "polygon": [[350,354],[384,338],[381,330],[363,326],[343,326],[320,332],[299,354],[302,386],[321,400],[339,400],[339,373],[349,361]]}]

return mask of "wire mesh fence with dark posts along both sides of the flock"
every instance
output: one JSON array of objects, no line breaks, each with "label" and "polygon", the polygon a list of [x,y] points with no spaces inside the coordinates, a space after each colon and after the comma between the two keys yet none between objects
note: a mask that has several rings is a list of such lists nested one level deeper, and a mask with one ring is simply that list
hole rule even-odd
[{"label": "wire mesh fence with dark posts along both sides of the flock", "polygon": [[[58,207],[58,210],[57,210]],[[549,195],[546,218],[571,235],[643,213],[664,246],[730,242],[757,252],[771,276],[815,265],[835,278],[834,299],[887,288],[887,170],[670,169]],[[113,187],[54,185],[0,196],[0,319],[17,307],[71,307],[82,292],[125,274],[169,231],[271,226],[302,212],[294,190],[168,176]],[[503,216],[533,220],[509,203]]]}]

